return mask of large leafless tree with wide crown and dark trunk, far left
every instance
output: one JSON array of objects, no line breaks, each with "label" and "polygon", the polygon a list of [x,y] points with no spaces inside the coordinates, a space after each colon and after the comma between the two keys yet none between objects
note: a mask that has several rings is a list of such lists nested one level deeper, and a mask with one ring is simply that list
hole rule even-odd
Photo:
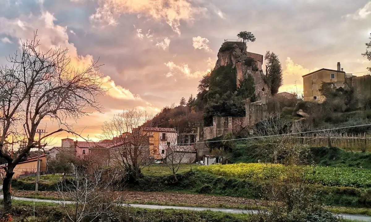
[{"label": "large leafless tree with wide crown and dark trunk, far left", "polygon": [[[21,51],[10,56],[8,63],[0,68],[0,158],[7,162],[3,183],[5,213],[11,211],[9,188],[15,166],[27,158],[30,149],[44,147],[46,144],[40,144],[44,138],[62,131],[73,133],[69,119],[86,116],[89,110],[100,111],[96,97],[103,93],[97,63],[75,69],[68,49],[42,52],[36,33],[33,40],[22,42]],[[54,121],[59,128],[35,140],[42,120]],[[23,142],[25,145],[12,158],[5,147]]]}]

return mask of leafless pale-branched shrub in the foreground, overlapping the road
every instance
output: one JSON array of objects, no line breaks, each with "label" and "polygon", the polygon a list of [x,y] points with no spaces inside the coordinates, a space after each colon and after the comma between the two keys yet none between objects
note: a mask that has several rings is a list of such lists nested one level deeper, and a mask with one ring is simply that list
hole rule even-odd
[{"label": "leafless pale-branched shrub in the foreground, overlapping the road", "polygon": [[[59,205],[72,222],[115,221],[122,212],[124,200],[115,190],[119,189],[121,170],[99,169],[88,173],[78,170],[72,181],[58,183]],[[69,204],[72,201],[72,206]]]}]

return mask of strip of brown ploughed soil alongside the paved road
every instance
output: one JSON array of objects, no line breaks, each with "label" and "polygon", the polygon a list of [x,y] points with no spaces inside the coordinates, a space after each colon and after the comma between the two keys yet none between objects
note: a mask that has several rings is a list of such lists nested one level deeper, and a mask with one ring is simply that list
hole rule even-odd
[{"label": "strip of brown ploughed soil alongside the paved road", "polygon": [[[140,191],[125,191],[118,195],[124,195],[127,202],[155,202],[162,204],[184,204],[184,205],[199,205],[199,206],[237,206],[237,205],[255,205],[255,201],[246,198],[236,198],[230,196],[212,196],[202,194],[188,194],[180,192],[140,192]],[[30,197],[35,195],[35,192],[28,190],[16,190],[13,193],[18,197]],[[58,198],[58,192],[55,191],[39,191],[39,197],[43,199]]]}]

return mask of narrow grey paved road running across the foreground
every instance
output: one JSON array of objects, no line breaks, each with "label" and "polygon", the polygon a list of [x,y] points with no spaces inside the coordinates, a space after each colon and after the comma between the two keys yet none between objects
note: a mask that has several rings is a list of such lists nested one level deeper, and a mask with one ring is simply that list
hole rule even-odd
[{"label": "narrow grey paved road running across the foreground", "polygon": [[[2,186],[0,186],[0,189]],[[3,198],[3,195],[0,195],[0,198]],[[13,199],[19,201],[35,201],[35,202],[44,202],[44,203],[63,203],[62,201],[52,201],[52,200],[41,200],[41,199],[31,199],[31,198],[20,198],[14,197]],[[65,201],[67,204],[72,204],[72,201]],[[198,208],[198,207],[187,207],[187,206],[159,206],[159,205],[142,205],[142,204],[130,204],[129,206],[136,208],[146,208],[146,209],[177,209],[177,210],[189,210],[189,211],[218,211],[224,213],[256,213],[257,211],[249,210],[240,210],[240,209],[222,209],[222,208]],[[370,221],[371,216],[362,216],[362,215],[351,215],[351,214],[338,214],[344,219],[355,220],[355,221]]]}]

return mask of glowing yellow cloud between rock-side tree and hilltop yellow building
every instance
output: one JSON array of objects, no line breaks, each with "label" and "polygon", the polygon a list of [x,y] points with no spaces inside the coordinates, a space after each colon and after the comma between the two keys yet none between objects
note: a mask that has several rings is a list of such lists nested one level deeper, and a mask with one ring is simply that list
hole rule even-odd
[{"label": "glowing yellow cloud between rock-side tree and hilltop yellow building", "polygon": [[290,57],[286,58],[285,69],[283,70],[283,86],[280,87],[280,92],[295,92],[302,93],[303,91],[303,75],[314,72],[318,68],[307,69],[300,64],[296,64]]}]

